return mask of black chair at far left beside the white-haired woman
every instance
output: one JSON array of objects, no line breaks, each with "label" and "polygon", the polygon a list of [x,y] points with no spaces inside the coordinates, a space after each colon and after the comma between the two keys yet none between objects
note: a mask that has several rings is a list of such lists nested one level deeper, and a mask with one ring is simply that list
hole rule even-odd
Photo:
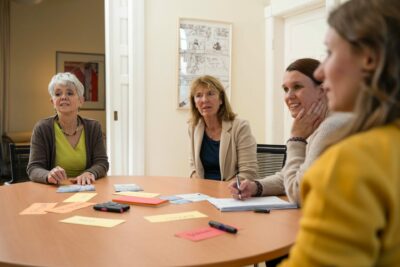
[{"label": "black chair at far left beside the white-haired woman", "polygon": [[10,185],[29,181],[26,167],[28,166],[30,150],[30,145],[9,144],[11,180],[4,184]]}]

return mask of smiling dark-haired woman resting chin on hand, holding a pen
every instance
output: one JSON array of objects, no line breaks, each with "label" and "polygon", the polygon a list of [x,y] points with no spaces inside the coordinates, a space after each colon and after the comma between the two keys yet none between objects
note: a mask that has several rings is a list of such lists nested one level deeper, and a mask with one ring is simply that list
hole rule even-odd
[{"label": "smiling dark-haired woman resting chin on hand, holding a pen", "polygon": [[322,82],[313,76],[319,64],[318,60],[302,58],[286,68],[282,88],[294,121],[291,137],[286,144],[285,166],[280,172],[263,179],[243,181],[240,195],[236,183],[230,183],[229,189],[234,198],[286,193],[291,202],[300,204],[300,182],[304,172],[325,149],[324,141],[329,134],[342,127],[351,116],[348,113],[335,113],[325,119],[326,94]]}]

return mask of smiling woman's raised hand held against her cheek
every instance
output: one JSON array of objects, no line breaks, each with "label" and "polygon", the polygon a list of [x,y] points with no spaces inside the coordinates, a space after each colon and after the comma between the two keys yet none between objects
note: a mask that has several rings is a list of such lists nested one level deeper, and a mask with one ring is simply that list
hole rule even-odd
[{"label": "smiling woman's raised hand held against her cheek", "polygon": [[307,139],[325,119],[327,109],[326,97],[314,102],[308,111],[303,108],[294,118],[291,136]]}]

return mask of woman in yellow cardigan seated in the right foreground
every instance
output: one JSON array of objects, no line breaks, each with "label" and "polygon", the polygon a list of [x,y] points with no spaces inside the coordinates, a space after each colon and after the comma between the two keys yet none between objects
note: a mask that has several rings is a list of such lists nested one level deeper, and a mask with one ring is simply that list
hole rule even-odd
[{"label": "woman in yellow cardigan seated in the right foreground", "polygon": [[328,23],[315,76],[329,108],[355,116],[303,177],[282,266],[400,266],[400,1],[348,1]]}]

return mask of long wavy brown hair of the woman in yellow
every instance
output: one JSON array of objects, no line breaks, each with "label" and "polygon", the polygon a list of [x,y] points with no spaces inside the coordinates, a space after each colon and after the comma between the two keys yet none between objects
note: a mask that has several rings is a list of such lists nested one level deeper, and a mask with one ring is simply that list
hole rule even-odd
[{"label": "long wavy brown hair of the woman in yellow", "polygon": [[378,61],[375,70],[364,73],[354,121],[331,140],[334,143],[400,118],[400,1],[348,1],[332,11],[328,24],[355,53],[370,49]]}]

